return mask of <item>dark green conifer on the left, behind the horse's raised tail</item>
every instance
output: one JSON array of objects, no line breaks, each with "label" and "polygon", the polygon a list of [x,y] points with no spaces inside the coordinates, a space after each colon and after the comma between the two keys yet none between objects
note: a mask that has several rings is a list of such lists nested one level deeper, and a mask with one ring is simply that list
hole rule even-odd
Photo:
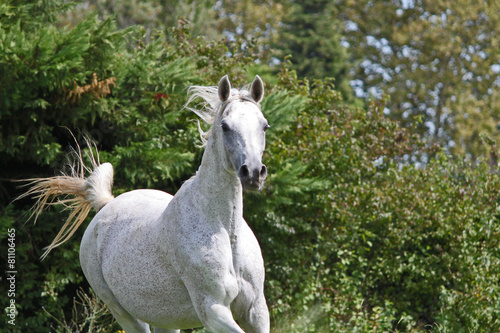
[{"label": "dark green conifer on the left, behind the horse's raised tail", "polygon": [[[118,30],[111,18],[88,15],[59,26],[57,18],[69,9],[59,0],[0,5],[0,228],[2,238],[9,228],[17,231],[19,332],[54,324],[42,307],[71,316],[83,275],[78,242],[39,262],[65,213],[48,212],[32,228],[26,224],[32,202],[9,205],[19,193],[10,179],[59,173],[77,143],[84,149],[83,135],[115,165],[117,193],[153,183],[175,192],[179,178],[193,172],[196,130],[185,126],[180,110],[185,87],[197,82],[194,62],[163,37],[146,44],[142,29]],[[0,325],[5,329],[5,321]]]}]

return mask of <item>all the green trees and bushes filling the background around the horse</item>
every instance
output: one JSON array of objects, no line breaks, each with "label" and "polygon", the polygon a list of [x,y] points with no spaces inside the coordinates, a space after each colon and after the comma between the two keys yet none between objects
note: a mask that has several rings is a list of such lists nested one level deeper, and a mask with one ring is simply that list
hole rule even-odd
[{"label": "all the green trees and bushes filling the background around the horse", "polygon": [[269,177],[244,214],[272,331],[498,331],[500,10],[450,6],[0,4],[0,262],[15,228],[19,312],[0,329],[119,330],[79,267],[83,229],[40,262],[67,212],[26,223],[33,201],[13,202],[12,180],[59,173],[87,135],[115,195],[175,193],[202,155],[187,87],[259,74]]}]

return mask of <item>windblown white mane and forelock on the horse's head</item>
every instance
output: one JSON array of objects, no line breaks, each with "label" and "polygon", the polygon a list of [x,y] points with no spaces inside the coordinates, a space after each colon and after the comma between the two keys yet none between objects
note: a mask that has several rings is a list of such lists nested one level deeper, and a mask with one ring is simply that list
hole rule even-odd
[{"label": "windblown white mane and forelock on the horse's head", "polygon": [[[184,105],[184,108],[194,112],[206,124],[213,125],[217,116],[221,115],[226,106],[235,100],[252,102],[260,108],[260,105],[252,99],[249,87],[250,86],[246,86],[241,89],[231,88],[231,96],[227,99],[227,101],[222,102],[219,98],[219,89],[217,86],[191,86],[188,88],[189,98]],[[197,98],[201,98],[203,100],[200,108],[188,106]],[[197,120],[197,122],[201,140],[200,147],[205,147],[210,136],[211,127],[207,131],[204,131],[201,128],[200,121]]]}]

